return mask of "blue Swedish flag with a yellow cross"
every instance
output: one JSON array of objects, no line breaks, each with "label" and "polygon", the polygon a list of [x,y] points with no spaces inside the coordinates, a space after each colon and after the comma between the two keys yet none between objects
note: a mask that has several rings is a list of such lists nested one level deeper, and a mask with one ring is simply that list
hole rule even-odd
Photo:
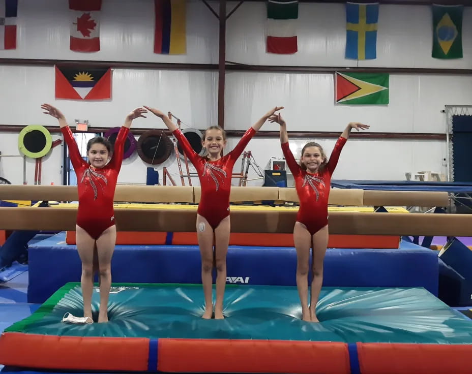
[{"label": "blue Swedish flag with a yellow cross", "polygon": [[346,3],[346,58],[377,58],[378,3]]}]

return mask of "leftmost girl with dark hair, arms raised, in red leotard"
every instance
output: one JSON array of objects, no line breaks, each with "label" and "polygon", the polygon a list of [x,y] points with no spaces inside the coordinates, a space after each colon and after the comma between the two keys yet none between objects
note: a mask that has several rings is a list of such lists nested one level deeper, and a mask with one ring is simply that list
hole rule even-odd
[{"label": "leftmost girl with dark hair, arms raised, in red leotard", "polygon": [[[59,121],[69,148],[72,166],[77,175],[79,206],[77,210],[76,243],[82,261],[80,279],[83,296],[83,317],[92,322],[94,273],[99,272],[100,309],[98,322],[108,322],[108,296],[111,286],[111,257],[116,242],[113,199],[118,174],[123,161],[125,141],[131,122],[147,111],[137,108],[126,117],[112,152],[107,139],[95,137],[88,141],[88,162],[80,155],[64,114],[49,104],[41,106],[45,114]],[[111,157],[111,159],[110,159]],[[109,162],[108,162],[109,161]]]}]

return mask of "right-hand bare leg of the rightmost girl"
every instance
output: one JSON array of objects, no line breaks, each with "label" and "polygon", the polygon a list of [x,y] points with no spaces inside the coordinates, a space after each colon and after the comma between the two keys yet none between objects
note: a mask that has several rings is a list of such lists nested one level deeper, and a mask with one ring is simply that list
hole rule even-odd
[{"label": "right-hand bare leg of the rightmost girl", "polygon": [[313,281],[311,283],[310,316],[311,322],[319,322],[316,317],[316,303],[323,284],[323,262],[325,261],[326,247],[328,246],[328,225],[313,235]]}]

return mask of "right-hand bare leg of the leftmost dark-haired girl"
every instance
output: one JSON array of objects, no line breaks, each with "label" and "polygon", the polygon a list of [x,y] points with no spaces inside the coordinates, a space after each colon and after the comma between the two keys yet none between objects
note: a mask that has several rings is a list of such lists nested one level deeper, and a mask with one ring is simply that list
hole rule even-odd
[{"label": "right-hand bare leg of the leftmost dark-haired girl", "polygon": [[98,322],[108,322],[108,297],[111,287],[111,257],[116,243],[116,226],[106,229],[97,239],[99,265],[100,310]]}]

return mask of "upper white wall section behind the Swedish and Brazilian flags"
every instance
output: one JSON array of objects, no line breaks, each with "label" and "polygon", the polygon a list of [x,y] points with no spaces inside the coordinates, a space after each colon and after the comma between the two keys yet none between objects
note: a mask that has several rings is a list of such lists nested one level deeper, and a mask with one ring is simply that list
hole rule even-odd
[{"label": "upper white wall section behind the Swedish and Brazilian flags", "polygon": [[293,55],[265,51],[266,21],[263,2],[243,4],[227,22],[226,59],[253,65],[472,69],[472,38],[468,37],[472,35],[470,7],[464,8],[463,14],[464,57],[454,60],[431,57],[432,12],[429,6],[380,5],[377,58],[359,63],[344,58],[344,4],[300,3],[299,50]]}]

